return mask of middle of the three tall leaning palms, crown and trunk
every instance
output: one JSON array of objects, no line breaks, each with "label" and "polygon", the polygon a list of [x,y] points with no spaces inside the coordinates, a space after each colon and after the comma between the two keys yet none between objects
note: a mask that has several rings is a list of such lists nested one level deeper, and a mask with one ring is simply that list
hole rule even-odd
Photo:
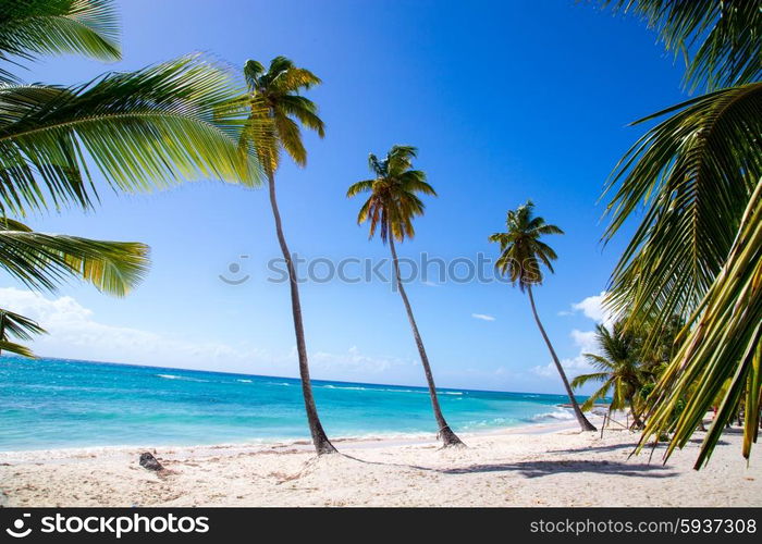
[{"label": "middle of the three tall leaning palms, crown and trunk", "polygon": [[383,244],[389,242],[394,263],[396,287],[407,311],[407,319],[410,322],[413,336],[423,366],[426,383],[429,386],[431,407],[439,426],[438,436],[442,438],[444,447],[464,446],[464,443],[453,432],[442,415],[439,398],[437,397],[434,376],[429,364],[429,357],[426,355],[423,341],[420,337],[410,301],[407,298],[405,286],[400,276],[400,261],[394,247],[395,239],[404,242],[405,238],[413,238],[415,235],[413,219],[423,214],[423,202],[418,198],[417,194],[437,196],[431,185],[426,182],[426,173],[420,170],[413,170],[413,159],[416,157],[417,149],[410,146],[393,146],[382,161],[373,153],[370,153],[368,165],[376,177],[353,184],[346,191],[346,196],[351,198],[360,193],[370,193],[368,200],[360,208],[357,223],[361,224],[368,221],[370,223],[369,237],[372,238],[378,230],[381,235],[381,242]]}]

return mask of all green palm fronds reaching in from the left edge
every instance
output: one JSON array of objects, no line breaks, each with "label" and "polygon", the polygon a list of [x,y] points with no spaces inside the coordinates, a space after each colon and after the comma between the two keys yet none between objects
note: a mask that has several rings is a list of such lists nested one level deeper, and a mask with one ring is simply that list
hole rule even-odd
[{"label": "all green palm fronds reaching in from the left edge", "polygon": [[[120,57],[111,0],[0,0],[0,63],[64,52]],[[147,267],[145,246],[34,233],[8,214],[91,208],[93,166],[125,191],[198,177],[256,183],[257,170],[237,150],[241,112],[228,106],[237,94],[224,71],[198,57],[71,87],[25,85],[0,64],[0,267],[32,288],[52,290],[77,276],[124,295]],[[22,339],[37,332],[9,331]]]}]

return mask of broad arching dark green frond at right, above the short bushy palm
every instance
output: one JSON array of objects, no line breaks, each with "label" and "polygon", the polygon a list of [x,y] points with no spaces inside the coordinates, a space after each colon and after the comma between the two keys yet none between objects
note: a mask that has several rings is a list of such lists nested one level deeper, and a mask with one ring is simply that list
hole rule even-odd
[{"label": "broad arching dark green frond at right, above the short bushy palm", "polygon": [[619,161],[606,193],[610,239],[636,210],[643,220],[612,274],[607,304],[663,329],[695,310],[723,267],[762,175],[762,84],[705,95],[675,112]]}]

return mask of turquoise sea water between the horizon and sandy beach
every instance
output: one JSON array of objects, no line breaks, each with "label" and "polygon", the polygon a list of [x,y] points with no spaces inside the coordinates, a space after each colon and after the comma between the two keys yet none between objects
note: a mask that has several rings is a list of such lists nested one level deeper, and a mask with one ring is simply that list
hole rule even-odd
[{"label": "turquoise sea water between the horizon and sandy beach", "polygon": [[[314,381],[330,436],[434,433],[425,388]],[[570,419],[561,395],[440,390],[456,431]],[[298,380],[0,357],[0,450],[309,436]]]}]

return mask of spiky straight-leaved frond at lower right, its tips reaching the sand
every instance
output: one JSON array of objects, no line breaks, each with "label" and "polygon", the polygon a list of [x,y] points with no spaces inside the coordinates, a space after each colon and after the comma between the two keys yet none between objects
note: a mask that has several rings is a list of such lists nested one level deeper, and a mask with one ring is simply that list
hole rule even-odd
[{"label": "spiky straight-leaved frond at lower right, its tips reaching the sand", "polygon": [[[649,436],[674,431],[668,457],[688,442],[720,396],[696,461],[701,468],[743,398],[742,454],[748,459],[758,438],[762,395],[762,182],[749,199],[727,262],[688,324],[692,327],[684,330],[681,347],[652,394],[655,403],[639,448]],[[684,396],[686,408],[673,428],[671,415]]]}]

